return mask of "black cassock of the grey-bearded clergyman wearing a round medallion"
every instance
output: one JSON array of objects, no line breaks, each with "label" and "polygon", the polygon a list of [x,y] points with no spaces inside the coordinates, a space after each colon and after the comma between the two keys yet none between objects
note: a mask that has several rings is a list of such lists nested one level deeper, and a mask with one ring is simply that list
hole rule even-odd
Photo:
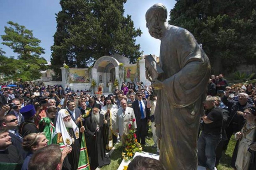
[{"label": "black cassock of the grey-bearded clergyman wearing a round medallion", "polygon": [[[110,164],[109,154],[106,155],[105,146],[107,144],[108,127],[103,123],[103,115],[100,114],[99,132],[97,132],[97,124],[91,121],[91,116],[86,119],[85,135],[86,147],[90,160],[91,170],[98,166]],[[94,136],[95,135],[95,136]]]}]

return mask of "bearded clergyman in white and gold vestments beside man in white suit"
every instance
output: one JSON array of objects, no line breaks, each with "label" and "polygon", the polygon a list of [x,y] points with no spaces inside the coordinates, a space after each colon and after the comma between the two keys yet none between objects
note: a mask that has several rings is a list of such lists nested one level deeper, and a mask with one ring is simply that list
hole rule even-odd
[{"label": "bearded clergyman in white and gold vestments beside man in white suit", "polygon": [[118,133],[116,132],[116,120],[117,120],[117,111],[118,107],[112,102],[110,96],[105,98],[104,106],[101,109],[101,114],[105,116],[107,120],[107,125],[109,126],[108,130],[108,146],[106,149],[110,150],[113,148],[113,145],[117,143]]}]

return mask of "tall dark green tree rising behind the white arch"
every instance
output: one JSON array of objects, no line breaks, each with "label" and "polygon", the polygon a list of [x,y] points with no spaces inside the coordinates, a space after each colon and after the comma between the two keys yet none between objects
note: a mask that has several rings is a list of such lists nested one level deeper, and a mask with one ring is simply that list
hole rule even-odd
[{"label": "tall dark green tree rising behind the white arch", "polygon": [[52,65],[60,72],[63,61],[70,67],[91,66],[99,57],[119,53],[134,63],[140,56],[131,16],[124,17],[126,0],[60,0]]}]

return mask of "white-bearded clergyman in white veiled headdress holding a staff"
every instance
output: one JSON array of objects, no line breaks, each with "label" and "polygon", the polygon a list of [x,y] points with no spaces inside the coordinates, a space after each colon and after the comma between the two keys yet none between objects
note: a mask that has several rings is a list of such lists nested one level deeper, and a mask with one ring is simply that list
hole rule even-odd
[{"label": "white-bearded clergyman in white veiled headdress holding a staff", "polygon": [[[84,130],[84,127],[80,128],[81,133],[84,132]],[[61,109],[58,112],[55,133],[53,134],[53,143],[59,144],[60,149],[65,148],[65,145],[72,147],[71,153],[64,159],[62,170],[77,169],[80,154],[79,139],[79,128],[71,119],[69,112],[66,109]]]}]

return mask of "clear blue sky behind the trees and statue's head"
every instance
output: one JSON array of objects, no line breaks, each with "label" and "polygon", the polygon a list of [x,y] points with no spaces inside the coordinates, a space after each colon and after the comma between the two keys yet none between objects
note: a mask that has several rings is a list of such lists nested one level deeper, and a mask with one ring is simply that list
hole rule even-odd
[{"label": "clear blue sky behind the trees and statue's head", "polygon": [[[137,37],[136,43],[140,44],[144,54],[159,56],[160,40],[149,35],[145,21],[145,13],[154,3],[165,4],[168,12],[175,5],[174,0],[127,0],[124,4],[124,15],[131,15],[134,26],[142,30],[143,34]],[[60,10],[59,0],[0,0],[0,35],[4,34],[4,26],[8,25],[8,21],[24,25],[27,29],[33,30],[34,37],[41,40],[40,46],[45,49],[42,56],[48,61],[51,56],[53,35],[56,32],[55,13]],[[6,56],[17,56],[9,47],[3,44],[0,44],[0,47],[6,52]]]}]

